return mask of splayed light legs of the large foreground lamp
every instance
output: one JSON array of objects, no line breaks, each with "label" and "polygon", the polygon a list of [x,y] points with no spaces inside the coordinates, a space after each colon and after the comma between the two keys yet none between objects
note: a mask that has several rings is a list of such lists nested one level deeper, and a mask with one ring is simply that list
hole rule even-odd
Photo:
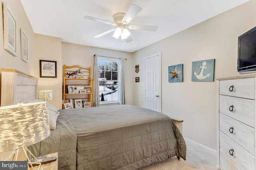
[{"label": "splayed light legs of the large foreground lamp", "polygon": [[[28,150],[27,147],[22,148],[22,151],[23,151],[24,154],[26,155],[26,158],[27,158],[27,160],[28,160],[28,165],[31,166],[32,170],[35,170],[35,169],[34,169],[34,166],[35,166],[35,165],[38,166],[38,167],[37,167],[37,170],[39,170],[39,168],[40,168],[40,166],[41,166],[41,162],[38,161],[38,159],[36,158],[36,156],[34,156],[34,154],[32,154],[32,153]],[[15,157],[16,157],[16,158],[15,158],[15,161],[17,161],[18,152],[19,152],[19,149],[15,149],[15,150],[12,152],[12,154],[11,154],[10,156],[8,156],[8,158],[5,159],[5,161],[10,160],[10,158],[12,158],[12,160],[14,160],[14,155],[15,155],[15,154],[16,154],[16,156],[15,156]],[[37,162],[31,162],[31,161],[30,161],[30,158],[28,158],[27,152],[29,152]],[[34,164],[34,166],[33,166],[33,164]]]}]

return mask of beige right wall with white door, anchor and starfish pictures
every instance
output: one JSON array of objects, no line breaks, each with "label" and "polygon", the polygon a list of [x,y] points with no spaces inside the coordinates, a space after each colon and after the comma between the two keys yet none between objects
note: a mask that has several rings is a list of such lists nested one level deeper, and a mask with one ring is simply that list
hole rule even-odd
[{"label": "beige right wall with white door, anchor and starfish pictures", "polygon": [[[256,26],[256,0],[224,12],[133,53],[133,65],[162,54],[162,113],[183,119],[184,137],[216,150],[216,81],[192,82],[192,61],[216,59],[215,79],[237,76],[238,36]],[[171,29],[171,28],[170,28]],[[184,82],[168,83],[168,66],[182,64]],[[144,107],[144,70],[133,105]],[[134,73],[134,77],[138,74]]]}]

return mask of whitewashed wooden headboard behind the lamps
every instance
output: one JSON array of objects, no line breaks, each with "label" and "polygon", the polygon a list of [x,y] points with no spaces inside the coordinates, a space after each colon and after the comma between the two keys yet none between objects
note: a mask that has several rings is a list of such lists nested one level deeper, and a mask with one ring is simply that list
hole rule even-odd
[{"label": "whitewashed wooden headboard behind the lamps", "polygon": [[1,106],[38,98],[38,78],[15,69],[1,69]]}]

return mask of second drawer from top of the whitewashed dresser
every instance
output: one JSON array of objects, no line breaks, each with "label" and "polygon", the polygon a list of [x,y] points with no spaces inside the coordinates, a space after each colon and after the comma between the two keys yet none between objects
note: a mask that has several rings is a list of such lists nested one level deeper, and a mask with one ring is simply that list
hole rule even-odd
[{"label": "second drawer from top of the whitewashed dresser", "polygon": [[254,100],[220,95],[220,113],[254,127]]}]

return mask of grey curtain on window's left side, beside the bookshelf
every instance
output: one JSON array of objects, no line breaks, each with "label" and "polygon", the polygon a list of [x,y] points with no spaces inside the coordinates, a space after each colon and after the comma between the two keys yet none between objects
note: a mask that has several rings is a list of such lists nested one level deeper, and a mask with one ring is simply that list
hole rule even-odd
[{"label": "grey curtain on window's left side, beside the bookshelf", "polygon": [[98,76],[98,55],[94,55],[94,69],[93,69],[93,77],[94,77],[94,90],[93,90],[93,98],[94,98],[94,107],[100,106],[100,93],[99,93],[99,76]]}]

